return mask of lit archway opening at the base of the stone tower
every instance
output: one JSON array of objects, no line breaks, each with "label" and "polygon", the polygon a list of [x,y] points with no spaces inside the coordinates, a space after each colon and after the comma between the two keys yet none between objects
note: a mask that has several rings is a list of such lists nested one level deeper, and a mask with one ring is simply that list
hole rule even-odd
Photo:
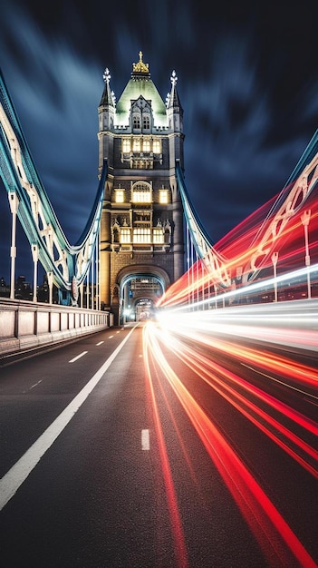
[{"label": "lit archway opening at the base of the stone tower", "polygon": [[151,317],[157,300],[169,287],[170,280],[166,270],[160,267],[130,265],[118,273],[117,285],[118,321],[122,325]]}]

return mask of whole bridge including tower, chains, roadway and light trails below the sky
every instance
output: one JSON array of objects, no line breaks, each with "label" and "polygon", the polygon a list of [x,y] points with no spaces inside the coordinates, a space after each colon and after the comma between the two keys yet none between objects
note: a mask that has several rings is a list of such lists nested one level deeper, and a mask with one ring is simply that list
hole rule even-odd
[{"label": "whole bridge including tower, chains, roadway and light trails below the sky", "polygon": [[100,179],[72,244],[1,77],[3,564],[316,568],[317,133],[280,194],[213,244],[185,183],[176,73],[166,103],[141,53],[118,103],[104,80]]}]

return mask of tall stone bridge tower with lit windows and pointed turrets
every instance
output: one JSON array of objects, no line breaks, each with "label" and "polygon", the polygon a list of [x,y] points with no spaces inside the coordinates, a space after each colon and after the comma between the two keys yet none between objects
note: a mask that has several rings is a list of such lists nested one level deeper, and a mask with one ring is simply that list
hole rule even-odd
[{"label": "tall stone bridge tower with lit windows and pointed turrets", "polygon": [[184,272],[182,203],[183,110],[177,76],[163,102],[149,64],[132,65],[119,101],[111,75],[99,112],[99,171],[108,163],[101,214],[101,302],[115,323],[148,317],[156,299]]}]

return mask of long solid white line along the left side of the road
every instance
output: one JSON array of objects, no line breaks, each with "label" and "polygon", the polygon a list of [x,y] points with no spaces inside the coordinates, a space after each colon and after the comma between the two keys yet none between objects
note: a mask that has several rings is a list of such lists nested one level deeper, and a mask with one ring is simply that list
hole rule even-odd
[{"label": "long solid white line along the left side of the road", "polygon": [[9,471],[0,479],[0,511],[5,504],[15,495],[20,485],[24,483],[26,477],[32,472],[35,465],[38,464],[45,452],[53,445],[57,436],[63,432],[65,426],[68,425],[72,417],[76,414],[82,403],[91,394],[92,389],[96,387],[101,377],[111,366],[112,361],[118,356],[120,349],[123,348],[126,341],[130,338],[130,333],[124,338],[118,348],[116,348],[111,357],[99,368],[95,375],[89,380],[87,385],[82,388],[79,394],[72,399],[72,402],[64,408],[63,412],[55,418],[53,423],[44,430],[43,434],[34,442],[34,444],[26,450],[25,454],[9,469]]}]

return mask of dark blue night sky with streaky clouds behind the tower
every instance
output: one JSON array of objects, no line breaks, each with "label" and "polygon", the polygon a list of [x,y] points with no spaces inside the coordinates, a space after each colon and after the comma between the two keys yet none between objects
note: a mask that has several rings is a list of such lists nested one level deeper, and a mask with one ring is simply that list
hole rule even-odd
[{"label": "dark blue night sky with streaky clouds behind the tower", "polygon": [[[110,69],[119,100],[140,50],[164,101],[172,70],[178,75],[186,184],[210,240],[281,191],[318,128],[315,5],[3,0],[0,66],[71,243],[98,186],[102,73]],[[0,276],[8,281],[11,215],[1,182],[0,208]],[[17,247],[17,272],[32,280],[21,231]]]}]

